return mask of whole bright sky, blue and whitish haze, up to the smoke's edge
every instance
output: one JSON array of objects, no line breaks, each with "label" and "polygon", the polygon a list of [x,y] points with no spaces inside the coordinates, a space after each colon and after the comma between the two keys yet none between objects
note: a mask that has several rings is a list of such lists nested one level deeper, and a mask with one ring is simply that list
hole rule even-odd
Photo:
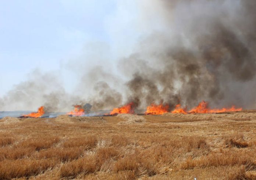
[{"label": "whole bright sky, blue and whitish haze, up to the smoke's edge", "polygon": [[0,1],[0,98],[35,71],[54,72],[68,93],[79,72],[118,71],[137,41],[161,29],[156,8],[147,0]]}]

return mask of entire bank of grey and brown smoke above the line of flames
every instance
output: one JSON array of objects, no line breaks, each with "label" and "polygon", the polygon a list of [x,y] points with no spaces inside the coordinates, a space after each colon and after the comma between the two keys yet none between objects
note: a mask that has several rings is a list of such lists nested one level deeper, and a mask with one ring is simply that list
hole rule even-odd
[{"label": "entire bank of grey and brown smoke above the line of flames", "polygon": [[[119,2],[111,16],[114,20],[107,22],[112,50],[118,50],[118,55],[104,56],[111,52],[109,46],[90,49],[96,57],[90,59],[105,68],[97,65],[89,70],[85,58],[72,62],[79,67],[75,95],[66,93],[53,76],[33,74],[1,98],[1,106],[35,109],[43,104],[60,110],[88,102],[99,110],[132,101],[136,108],[153,102],[190,108],[205,100],[217,108],[255,108],[255,0],[142,0],[134,4],[137,11],[130,13],[131,19],[122,11],[127,4]],[[124,32],[116,33],[119,30]],[[111,58],[115,62],[114,57],[119,59],[117,71],[108,64]]]}]

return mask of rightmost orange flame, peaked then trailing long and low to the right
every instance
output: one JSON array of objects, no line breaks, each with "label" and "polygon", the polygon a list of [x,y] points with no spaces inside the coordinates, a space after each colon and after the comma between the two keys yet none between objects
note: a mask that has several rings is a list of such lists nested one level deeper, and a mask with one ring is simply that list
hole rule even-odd
[{"label": "rightmost orange flame, peaked then trailing long and low to the right", "polygon": [[241,111],[242,108],[235,108],[235,106],[232,106],[231,108],[222,108],[222,109],[209,109],[208,103],[205,101],[202,101],[199,103],[198,106],[191,109],[189,113],[221,113],[221,112],[231,112],[231,111]]}]

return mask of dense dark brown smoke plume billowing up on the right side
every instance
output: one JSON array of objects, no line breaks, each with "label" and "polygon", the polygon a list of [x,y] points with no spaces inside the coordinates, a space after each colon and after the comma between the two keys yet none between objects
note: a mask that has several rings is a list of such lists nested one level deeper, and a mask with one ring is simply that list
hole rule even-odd
[{"label": "dense dark brown smoke plume billowing up on the right side", "polygon": [[253,107],[255,96],[247,96],[253,90],[241,89],[255,87],[255,8],[253,0],[163,1],[158,10],[164,11],[164,30],[146,37],[121,63],[133,72],[130,97],[171,108],[202,100]]}]

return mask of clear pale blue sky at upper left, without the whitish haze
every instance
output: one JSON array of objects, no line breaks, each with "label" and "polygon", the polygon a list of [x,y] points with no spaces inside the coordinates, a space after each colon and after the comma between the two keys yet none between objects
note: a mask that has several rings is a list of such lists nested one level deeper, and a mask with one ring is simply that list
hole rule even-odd
[{"label": "clear pale blue sky at upper left, without the whitish haze", "polygon": [[111,42],[114,0],[0,1],[0,97],[31,71],[54,71],[86,43]]}]

